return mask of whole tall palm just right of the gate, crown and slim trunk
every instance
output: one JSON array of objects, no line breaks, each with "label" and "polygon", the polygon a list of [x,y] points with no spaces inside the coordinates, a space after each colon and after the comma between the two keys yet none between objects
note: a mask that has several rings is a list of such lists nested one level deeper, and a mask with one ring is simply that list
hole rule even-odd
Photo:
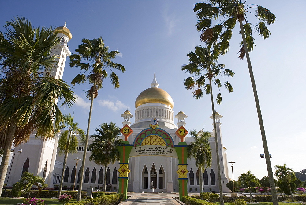
[{"label": "whole tall palm just right of the gate, crown and slim trunk", "polygon": [[[203,91],[205,94],[211,94],[211,107],[213,113],[214,120],[214,134],[215,134],[215,144],[216,144],[216,154],[219,156],[218,149],[218,137],[217,137],[217,128],[216,128],[216,117],[215,117],[215,105],[214,98],[212,93],[212,83],[218,86],[218,88],[222,87],[219,76],[221,72],[223,72],[224,76],[233,77],[235,74],[233,71],[229,69],[225,69],[224,64],[218,64],[218,52],[211,51],[210,48],[203,48],[201,45],[196,46],[195,52],[188,52],[187,56],[189,57],[189,64],[182,66],[182,71],[185,70],[186,73],[193,75],[192,77],[185,78],[184,85],[187,90],[194,89],[193,97],[196,99],[200,99],[203,97]],[[224,78],[224,76],[222,76]],[[208,80],[208,84],[206,83]],[[230,93],[233,92],[233,87],[231,84],[226,81],[223,83],[226,90]],[[222,103],[221,93],[217,95],[217,104]],[[222,191],[222,181],[221,181],[221,171],[220,171],[220,159],[217,158],[218,165],[218,182],[219,182],[219,191],[220,191],[220,203],[224,204],[223,201],[223,191]]]}]

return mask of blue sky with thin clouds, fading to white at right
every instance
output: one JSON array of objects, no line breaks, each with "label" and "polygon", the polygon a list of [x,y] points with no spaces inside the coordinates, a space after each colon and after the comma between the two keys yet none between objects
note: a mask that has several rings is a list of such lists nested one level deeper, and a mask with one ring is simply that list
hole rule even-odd
[{"label": "blue sky with thin clouds, fading to white at right", "polygon": [[[135,111],[135,99],[150,87],[154,72],[159,87],[174,100],[174,113],[184,111],[187,129],[213,129],[210,97],[196,100],[183,86],[188,77],[181,71],[188,64],[186,54],[194,50],[200,34],[196,31],[196,14],[192,5],[197,0],[148,0],[148,1],[2,1],[0,25],[16,16],[24,16],[33,26],[62,26],[67,21],[73,38],[68,42],[71,52],[81,44],[82,38],[102,37],[110,50],[119,50],[116,62],[125,66],[125,73],[118,73],[120,88],[114,89],[109,80],[95,99],[90,134],[103,122],[115,122],[122,126],[122,114]],[[303,0],[248,0],[269,8],[277,21],[270,25],[272,33],[263,40],[257,33],[256,48],[250,53],[256,85],[259,93],[263,120],[267,135],[271,163],[287,164],[295,171],[305,167],[305,26],[306,14]],[[247,14],[248,20],[255,20]],[[254,21],[253,21],[254,22]],[[255,25],[255,22],[253,23]],[[0,27],[1,31],[5,29]],[[263,145],[259,130],[254,97],[246,60],[239,60],[241,36],[237,28],[230,42],[230,52],[221,56],[219,63],[226,64],[236,75],[229,79],[234,93],[221,89],[223,102],[216,105],[223,118],[223,144],[228,149],[228,161],[236,161],[234,178],[251,170],[259,179],[267,176]],[[65,66],[63,79],[68,83],[78,69]],[[72,108],[62,112],[74,112],[75,119],[86,130],[89,101],[83,93],[88,84],[74,87],[80,99]],[[214,91],[217,94],[217,90]],[[133,121],[133,118],[132,118]],[[176,121],[175,121],[176,123]]]}]

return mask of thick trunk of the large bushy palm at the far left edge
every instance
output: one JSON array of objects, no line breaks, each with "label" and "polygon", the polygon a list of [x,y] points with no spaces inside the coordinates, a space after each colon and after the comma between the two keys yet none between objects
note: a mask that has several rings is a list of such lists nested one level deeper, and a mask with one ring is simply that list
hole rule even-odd
[{"label": "thick trunk of the large bushy palm at the far left edge", "polygon": [[9,127],[7,133],[7,140],[5,147],[3,148],[2,161],[0,166],[0,193],[2,193],[2,188],[4,185],[4,180],[6,177],[7,167],[9,166],[9,155],[11,153],[12,142],[14,139],[14,134],[16,131],[16,124]]}]

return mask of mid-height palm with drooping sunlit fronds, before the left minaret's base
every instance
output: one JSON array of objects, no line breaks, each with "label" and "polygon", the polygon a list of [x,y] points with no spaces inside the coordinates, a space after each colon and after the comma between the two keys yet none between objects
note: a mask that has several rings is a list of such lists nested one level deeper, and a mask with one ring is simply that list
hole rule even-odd
[{"label": "mid-height palm with drooping sunlit fronds, before the left minaret's base", "polygon": [[71,116],[70,113],[68,115],[64,115],[62,124],[57,128],[58,131],[67,129],[62,132],[60,138],[58,139],[58,154],[65,154],[58,196],[62,195],[62,186],[68,153],[76,153],[76,149],[79,145],[76,134],[79,134],[81,143],[84,143],[85,141],[85,131],[79,128],[79,123],[73,122],[73,118],[74,117]]}]

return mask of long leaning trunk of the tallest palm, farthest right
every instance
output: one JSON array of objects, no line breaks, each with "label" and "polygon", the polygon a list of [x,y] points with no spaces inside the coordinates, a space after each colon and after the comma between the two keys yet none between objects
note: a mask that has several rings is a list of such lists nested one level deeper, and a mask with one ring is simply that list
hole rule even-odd
[{"label": "long leaning trunk of the tallest palm, farthest right", "polygon": [[245,40],[244,29],[243,29],[241,19],[239,19],[239,24],[240,24],[240,31],[241,31],[243,46],[244,46],[244,50],[245,50],[245,56],[246,56],[246,59],[247,59],[247,62],[248,62],[248,69],[249,69],[249,73],[250,73],[254,98],[255,98],[255,104],[256,104],[257,115],[258,115],[258,120],[259,120],[259,127],[260,127],[260,131],[261,131],[261,138],[262,138],[262,141],[263,141],[263,150],[264,150],[264,153],[265,153],[265,156],[266,156],[266,164],[267,164],[267,170],[268,170],[268,176],[269,176],[269,182],[270,182],[270,188],[271,188],[272,201],[273,201],[273,205],[278,205],[278,199],[277,199],[277,193],[276,193],[276,188],[275,188],[275,184],[274,184],[273,170],[272,170],[271,161],[270,161],[270,157],[269,157],[269,150],[268,150],[268,144],[267,144],[267,139],[266,139],[266,133],[265,133],[265,129],[264,129],[264,126],[263,126],[263,117],[261,115],[259,99],[258,99],[258,94],[257,94],[257,89],[256,89],[256,84],[255,84],[255,78],[254,78],[254,74],[253,74],[253,70],[252,70],[252,64],[251,64],[250,56],[249,56],[249,53],[248,53],[247,41]]}]

